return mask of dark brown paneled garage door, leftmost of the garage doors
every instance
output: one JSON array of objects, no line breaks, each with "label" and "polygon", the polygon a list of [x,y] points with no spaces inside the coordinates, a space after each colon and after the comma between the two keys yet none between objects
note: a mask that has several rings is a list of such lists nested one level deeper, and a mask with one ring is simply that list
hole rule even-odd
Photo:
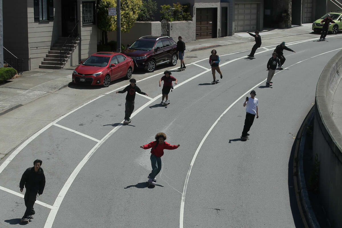
[{"label": "dark brown paneled garage door, leftmost of the garage doors", "polygon": [[213,38],[213,8],[196,9],[196,40]]}]

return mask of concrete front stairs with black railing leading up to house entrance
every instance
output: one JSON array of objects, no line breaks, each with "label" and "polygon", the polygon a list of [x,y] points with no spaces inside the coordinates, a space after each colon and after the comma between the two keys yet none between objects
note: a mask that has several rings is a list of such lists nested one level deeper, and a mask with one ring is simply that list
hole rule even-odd
[{"label": "concrete front stairs with black railing leading up to house entrance", "polygon": [[67,61],[69,60],[71,53],[76,49],[77,45],[80,42],[80,38],[77,38],[76,41],[73,44],[69,44],[70,51],[66,53],[65,58],[61,59],[61,48],[65,41],[67,40],[67,37],[60,37],[54,45],[50,48],[48,54],[46,54],[46,57],[44,57],[44,60],[42,61],[42,64],[39,65],[39,68],[43,69],[62,69]]}]

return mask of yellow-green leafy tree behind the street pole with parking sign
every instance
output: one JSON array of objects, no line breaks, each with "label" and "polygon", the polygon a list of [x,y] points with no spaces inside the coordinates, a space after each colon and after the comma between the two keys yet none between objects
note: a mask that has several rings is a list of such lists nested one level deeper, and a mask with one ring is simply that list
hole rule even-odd
[{"label": "yellow-green leafy tree behind the street pole with parking sign", "polygon": [[[128,32],[142,6],[142,0],[120,0],[121,32]],[[97,27],[102,30],[107,44],[107,31],[116,31],[116,16],[108,16],[108,8],[116,7],[116,0],[97,0]]]}]

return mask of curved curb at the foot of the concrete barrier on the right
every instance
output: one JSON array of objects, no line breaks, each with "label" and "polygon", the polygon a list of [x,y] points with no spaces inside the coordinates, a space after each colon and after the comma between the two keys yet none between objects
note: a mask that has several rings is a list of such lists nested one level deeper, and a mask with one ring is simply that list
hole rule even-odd
[{"label": "curved curb at the foot of the concrete barrier on the right", "polygon": [[320,225],[317,221],[315,212],[311,206],[309,195],[306,188],[305,183],[305,177],[304,177],[304,145],[306,140],[306,129],[308,124],[312,121],[314,118],[315,112],[314,112],[314,106],[311,108],[310,112],[308,113],[308,118],[306,122],[304,123],[304,129],[302,131],[301,140],[300,140],[300,146],[299,146],[299,154],[298,154],[298,165],[297,165],[297,173],[298,173],[298,180],[297,184],[299,187],[299,197],[301,201],[302,209],[305,212],[305,220],[308,223],[308,225],[311,228],[320,228]]}]

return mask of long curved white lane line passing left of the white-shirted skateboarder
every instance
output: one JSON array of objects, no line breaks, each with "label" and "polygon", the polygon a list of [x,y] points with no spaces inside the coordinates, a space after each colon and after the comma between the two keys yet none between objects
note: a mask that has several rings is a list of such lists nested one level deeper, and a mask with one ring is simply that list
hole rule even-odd
[{"label": "long curved white lane line passing left of the white-shirted skateboarder", "polygon": [[[295,64],[292,64],[291,66],[293,65],[296,65],[298,63],[301,63],[301,62],[304,62],[308,59],[311,59],[311,58],[314,58],[314,57],[317,57],[317,56],[320,56],[320,55],[324,55],[326,53],[329,53],[329,52],[333,52],[333,51],[337,51],[337,50],[340,50],[342,48],[338,48],[338,49],[335,49],[335,50],[332,50],[332,51],[328,51],[328,52],[324,52],[324,53],[321,53],[321,54],[318,54],[318,55],[315,55],[315,56],[312,56],[310,58],[307,58],[307,59],[304,59],[302,61],[299,61]],[[291,66],[288,66],[287,68],[291,67]],[[284,69],[287,69],[287,68],[284,68]],[[280,73],[281,71],[277,72],[277,73]],[[275,75],[277,74],[275,73]],[[231,107],[233,105],[235,105],[241,98],[243,98],[246,94],[248,94],[251,90],[255,89],[258,85],[260,85],[261,83],[263,83],[264,81],[266,81],[267,78],[265,78],[263,81],[261,81],[260,83],[258,83],[257,85],[253,86],[251,89],[249,89],[246,93],[242,94],[239,98],[237,98],[231,105],[229,105],[229,107],[219,116],[219,118],[213,123],[213,125],[211,125],[210,129],[208,130],[207,134],[203,137],[203,139],[201,140],[200,144],[198,145],[196,151],[195,151],[195,154],[194,154],[194,157],[193,159],[191,160],[190,162],[190,166],[189,166],[189,169],[188,169],[188,172],[186,174],[186,177],[185,177],[185,183],[184,183],[184,187],[183,187],[183,193],[182,193],[182,200],[181,200],[181,208],[180,208],[180,215],[179,215],[179,228],[183,228],[183,220],[184,220],[184,204],[185,204],[185,196],[186,196],[186,189],[187,189],[187,185],[188,185],[188,182],[189,182],[189,178],[190,178],[190,174],[191,174],[191,170],[192,170],[192,167],[195,163],[195,160],[197,158],[197,155],[198,155],[198,152],[199,150],[201,149],[204,141],[207,139],[208,135],[210,134],[210,132],[213,130],[213,128],[215,127],[215,125],[219,122],[219,120],[225,115],[225,113],[231,109]]]}]

